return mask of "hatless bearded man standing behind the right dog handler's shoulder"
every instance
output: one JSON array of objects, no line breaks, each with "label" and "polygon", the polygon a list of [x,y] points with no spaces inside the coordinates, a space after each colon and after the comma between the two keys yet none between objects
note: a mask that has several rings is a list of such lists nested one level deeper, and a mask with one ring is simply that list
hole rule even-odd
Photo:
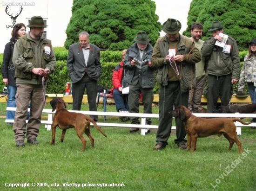
[{"label": "hatless bearded man standing behind the right dog handler's shoulder", "polygon": [[[194,41],[195,47],[201,51],[203,42],[200,38],[202,37],[202,24],[201,23],[193,23],[190,28],[191,37],[190,39]],[[207,75],[205,74],[205,64],[204,58],[195,64],[195,78],[196,78],[196,86],[195,89],[189,91],[189,109],[192,109],[193,113],[198,113],[198,107],[201,104],[203,85],[205,83],[205,78]]]}]

